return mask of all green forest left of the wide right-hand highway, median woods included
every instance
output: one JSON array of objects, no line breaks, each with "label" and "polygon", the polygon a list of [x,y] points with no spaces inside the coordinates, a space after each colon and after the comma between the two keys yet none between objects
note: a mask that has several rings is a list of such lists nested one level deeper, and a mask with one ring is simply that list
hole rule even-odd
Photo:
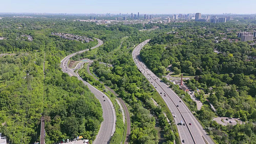
[{"label": "all green forest left of the wide right-hand highway, median woods included", "polygon": [[[149,38],[148,35],[156,36],[160,31],[166,30],[140,33],[138,26],[133,25],[105,27],[92,22],[63,21],[59,17],[5,17],[0,22],[3,26],[0,36],[5,37],[0,40],[0,50],[5,54],[0,57],[0,132],[8,137],[8,141],[39,141],[41,114],[46,119],[46,143],[74,138],[77,135],[93,140],[97,134],[102,121],[99,102],[86,86],[76,78],[62,73],[59,68],[63,57],[89,49],[97,42],[95,40],[81,43],[66,40],[52,36],[52,32],[97,37],[103,40],[104,44],[96,53],[89,51],[72,59],[90,58],[116,65],[111,73],[117,76],[115,81],[118,83],[106,78],[109,82],[106,84],[113,86],[130,106],[131,143],[157,143],[159,132],[155,129],[156,123],[160,123],[160,129],[165,133],[161,138],[163,141],[169,143],[179,138],[176,128],[167,123],[161,107],[156,107],[150,100],[154,95],[157,97],[157,93],[152,91],[153,87],[139,73],[130,54],[136,44]],[[147,28],[153,26],[146,25]],[[31,36],[33,40],[28,40],[24,35]],[[125,58],[122,60],[122,57]],[[101,69],[97,66],[102,65],[94,65],[96,69]],[[122,67],[126,69],[126,76],[117,72]],[[129,78],[126,78],[127,75]],[[103,76],[100,78],[102,80]],[[129,81],[125,79],[133,79],[131,88],[127,85]],[[137,87],[141,90],[138,91]],[[171,117],[170,114],[168,116]]]}]

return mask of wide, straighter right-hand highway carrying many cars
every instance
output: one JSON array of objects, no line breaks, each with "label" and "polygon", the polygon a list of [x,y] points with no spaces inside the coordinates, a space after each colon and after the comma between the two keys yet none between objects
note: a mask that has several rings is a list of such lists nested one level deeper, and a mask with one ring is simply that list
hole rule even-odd
[{"label": "wide, straighter right-hand highway carrying many cars", "polygon": [[214,143],[214,141],[212,141],[212,139],[206,134],[200,123],[197,121],[196,117],[193,115],[193,113],[190,112],[190,110],[178,97],[178,95],[165,83],[163,83],[142,62],[142,59],[139,56],[140,50],[148,41],[150,41],[150,39],[143,41],[135,47],[132,54],[133,60],[141,73],[156,88],[157,92],[163,98],[170,112],[173,114],[180,139],[184,143]]}]

